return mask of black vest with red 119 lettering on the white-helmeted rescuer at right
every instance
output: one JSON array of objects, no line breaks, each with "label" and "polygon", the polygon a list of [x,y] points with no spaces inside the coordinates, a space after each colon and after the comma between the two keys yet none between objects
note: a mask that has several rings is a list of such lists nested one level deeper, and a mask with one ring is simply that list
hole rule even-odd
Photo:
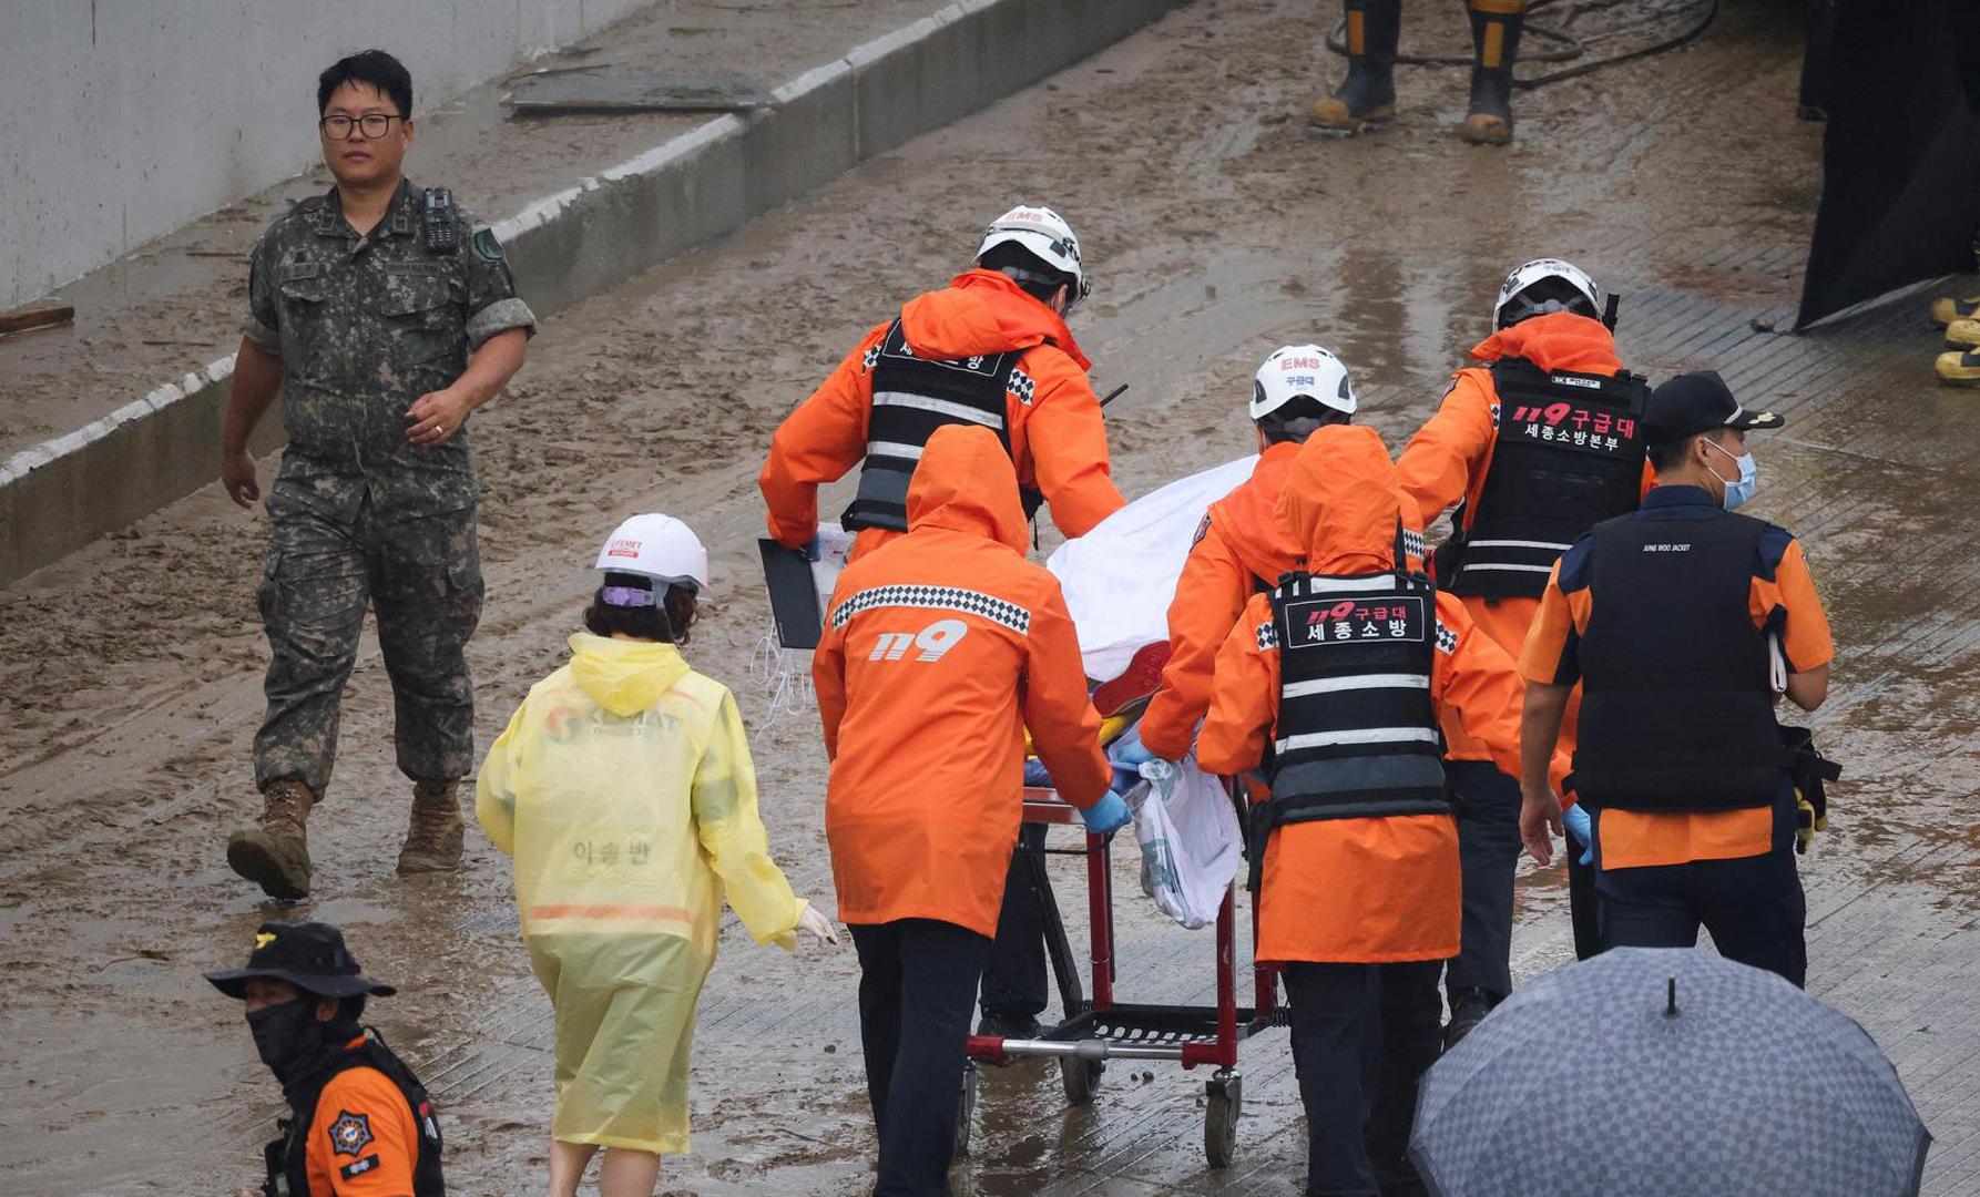
[{"label": "black vest with red 119 lettering on the white-helmeted rescuer at right", "polygon": [[1457,518],[1449,590],[1538,598],[1582,532],[1637,508],[1649,388],[1634,374],[1546,372],[1525,358],[1493,362],[1491,376],[1499,435],[1477,514]]}]

